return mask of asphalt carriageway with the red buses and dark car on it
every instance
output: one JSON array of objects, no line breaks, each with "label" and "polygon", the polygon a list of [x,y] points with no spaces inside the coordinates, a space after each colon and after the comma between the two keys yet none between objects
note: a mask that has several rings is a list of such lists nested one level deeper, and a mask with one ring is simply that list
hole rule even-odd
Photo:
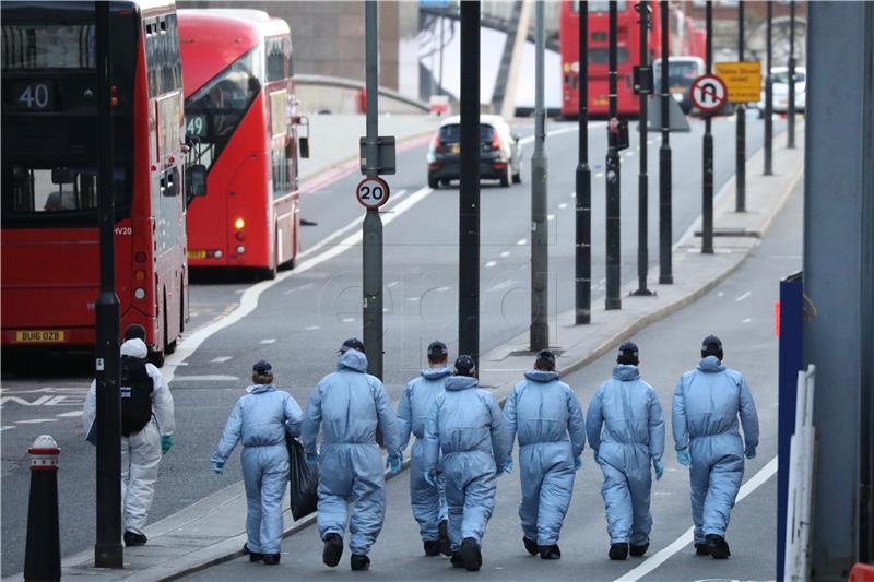
[{"label": "asphalt carriageway with the red buses and dark car on it", "polygon": [[[761,143],[761,123],[748,120],[749,153]],[[633,128],[634,128],[633,123]],[[704,123],[693,132],[674,134],[673,236],[677,239],[700,213],[700,149]],[[775,123],[777,131],[782,122]],[[713,122],[717,191],[734,169],[734,121]],[[551,312],[570,309],[574,301],[574,204],[577,132],[575,123],[548,122],[548,209]],[[482,188],[481,352],[506,342],[528,326],[530,231],[530,124],[520,124],[524,147],[523,183],[505,189]],[[622,158],[623,282],[636,276],[637,133]],[[649,144],[650,262],[658,260],[658,149]],[[604,177],[606,151],[603,123],[590,129],[592,166],[593,300],[602,300],[604,273]],[[598,155],[595,155],[598,153]],[[425,188],[425,146],[399,151],[399,173],[389,178],[392,200],[385,209],[385,379],[392,397],[422,366],[424,347],[435,337],[453,352],[458,295],[458,189]],[[151,521],[241,478],[237,463],[216,478],[208,456],[226,415],[246,385],[250,366],[271,360],[277,383],[302,405],[315,383],[334,367],[334,352],[344,337],[361,335],[361,246],[355,234],[362,209],[354,202],[357,175],[307,193],[304,217],[317,226],[304,229],[308,249],[297,272],[269,286],[258,308],[245,319],[209,337],[181,365],[173,368],[176,402],[176,444],[161,466]],[[352,237],[352,238],[351,238]],[[463,260],[463,258],[462,258]],[[194,326],[220,320],[251,286],[245,276],[201,277],[191,287]],[[91,381],[87,355],[4,354],[2,363],[2,574],[21,570],[27,511],[26,450],[33,439],[49,432],[61,453],[60,523],[64,555],[82,550],[94,539],[94,454],[82,440],[80,411]],[[169,370],[170,367],[165,367]]]}]

